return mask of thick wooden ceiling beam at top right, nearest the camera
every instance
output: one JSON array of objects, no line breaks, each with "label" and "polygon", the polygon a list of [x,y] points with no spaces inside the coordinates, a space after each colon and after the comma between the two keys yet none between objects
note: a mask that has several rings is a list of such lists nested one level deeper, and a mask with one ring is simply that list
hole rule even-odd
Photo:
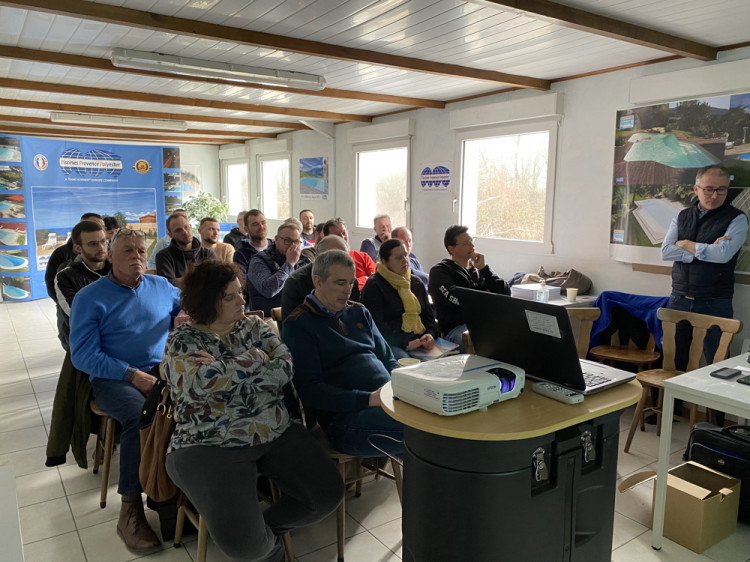
[{"label": "thick wooden ceiling beam at top right, nearest the camera", "polygon": [[561,25],[568,29],[585,31],[586,33],[634,43],[642,47],[658,49],[683,57],[715,60],[718,53],[718,49],[710,45],[586,12],[571,6],[564,6],[549,0],[483,0],[481,3],[498,8],[512,8],[523,15]]}]

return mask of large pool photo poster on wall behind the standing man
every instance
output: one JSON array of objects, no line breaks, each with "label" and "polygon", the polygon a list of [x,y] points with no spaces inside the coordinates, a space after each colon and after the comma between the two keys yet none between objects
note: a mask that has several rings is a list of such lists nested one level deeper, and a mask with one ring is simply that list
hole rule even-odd
[{"label": "large pool photo poster on wall behind the standing man", "polygon": [[[750,93],[618,111],[610,255],[665,265],[669,223],[694,201],[695,174],[711,164],[729,170],[728,200],[750,216]],[[746,243],[737,272],[750,273],[749,249]]]}]

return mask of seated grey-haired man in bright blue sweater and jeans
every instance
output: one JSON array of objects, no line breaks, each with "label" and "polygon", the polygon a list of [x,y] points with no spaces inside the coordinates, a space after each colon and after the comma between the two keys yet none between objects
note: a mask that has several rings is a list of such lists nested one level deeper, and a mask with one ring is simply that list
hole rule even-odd
[{"label": "seated grey-haired man in bright blue sweater and jeans", "polygon": [[180,311],[179,290],[143,275],[146,260],[143,232],[120,230],[109,250],[112,271],[81,289],[70,313],[73,365],[89,374],[97,404],[122,425],[117,534],[135,552],[161,544],[143,512],[138,419]]}]

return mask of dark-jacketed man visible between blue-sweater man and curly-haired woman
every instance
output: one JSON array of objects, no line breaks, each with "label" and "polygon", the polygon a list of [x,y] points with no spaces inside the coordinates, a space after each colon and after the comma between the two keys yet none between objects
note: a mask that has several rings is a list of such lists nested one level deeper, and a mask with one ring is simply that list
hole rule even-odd
[{"label": "dark-jacketed man visible between blue-sweater man and curly-haired woman", "polygon": [[190,263],[205,259],[216,259],[213,250],[201,246],[193,236],[193,227],[183,215],[171,215],[167,219],[167,233],[172,242],[156,254],[156,273],[166,277],[174,286],[179,286]]}]

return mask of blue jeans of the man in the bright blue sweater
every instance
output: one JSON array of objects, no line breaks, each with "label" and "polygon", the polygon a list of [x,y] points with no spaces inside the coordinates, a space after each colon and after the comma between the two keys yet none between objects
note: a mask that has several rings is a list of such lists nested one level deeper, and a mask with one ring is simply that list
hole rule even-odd
[{"label": "blue jeans of the man in the bright blue sweater", "polygon": [[138,478],[138,467],[141,464],[138,420],[146,397],[132,384],[121,380],[95,377],[91,381],[91,386],[94,387],[94,398],[99,408],[122,426],[120,483],[117,493],[123,496],[139,496],[142,488]]}]

